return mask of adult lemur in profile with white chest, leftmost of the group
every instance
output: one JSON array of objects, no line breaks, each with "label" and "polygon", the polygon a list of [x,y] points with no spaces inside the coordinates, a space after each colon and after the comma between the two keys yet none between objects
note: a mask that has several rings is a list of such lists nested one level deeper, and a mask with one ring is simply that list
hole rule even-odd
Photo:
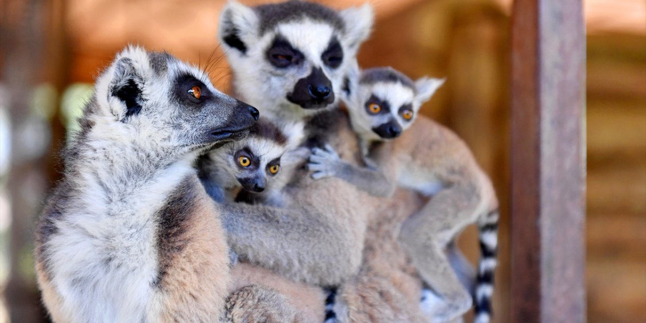
[{"label": "adult lemur in profile with white chest, leftmost of the group", "polygon": [[244,138],[257,119],[169,54],[118,54],[96,81],[37,225],[37,280],[52,319],[222,317],[228,247],[193,163]]}]

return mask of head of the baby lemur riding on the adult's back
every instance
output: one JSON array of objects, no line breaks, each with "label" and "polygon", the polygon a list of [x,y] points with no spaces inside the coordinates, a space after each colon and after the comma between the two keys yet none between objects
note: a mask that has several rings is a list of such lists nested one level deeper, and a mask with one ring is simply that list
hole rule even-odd
[{"label": "head of the baby lemur riding on the adult's back", "polygon": [[444,79],[408,78],[391,67],[348,72],[348,89],[343,100],[352,127],[364,140],[397,138],[412,125],[422,103],[431,98]]}]

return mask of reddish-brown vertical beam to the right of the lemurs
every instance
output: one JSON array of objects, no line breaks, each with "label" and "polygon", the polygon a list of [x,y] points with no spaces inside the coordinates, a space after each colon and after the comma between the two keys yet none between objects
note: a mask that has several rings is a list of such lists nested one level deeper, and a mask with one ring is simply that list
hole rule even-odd
[{"label": "reddish-brown vertical beam to the right of the lemurs", "polygon": [[581,0],[512,18],[512,322],[585,322],[585,27]]}]

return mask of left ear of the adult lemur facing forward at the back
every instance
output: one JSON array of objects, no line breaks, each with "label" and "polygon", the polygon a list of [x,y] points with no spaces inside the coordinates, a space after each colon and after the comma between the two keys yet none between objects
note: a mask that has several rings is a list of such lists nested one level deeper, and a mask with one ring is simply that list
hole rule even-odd
[{"label": "left ear of the adult lemur facing forward at the back", "polygon": [[253,9],[229,0],[220,15],[218,38],[229,48],[238,50],[242,54],[247,52],[248,43],[255,40],[258,34],[258,16]]}]

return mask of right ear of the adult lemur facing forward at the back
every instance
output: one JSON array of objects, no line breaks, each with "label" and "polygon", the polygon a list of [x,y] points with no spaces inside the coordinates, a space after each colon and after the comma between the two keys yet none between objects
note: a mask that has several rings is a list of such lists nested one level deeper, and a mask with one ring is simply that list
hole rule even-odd
[{"label": "right ear of the adult lemur facing forward at the back", "polygon": [[339,12],[346,25],[346,39],[350,50],[358,50],[359,45],[363,43],[372,28],[374,12],[370,3],[357,7],[351,7]]}]

